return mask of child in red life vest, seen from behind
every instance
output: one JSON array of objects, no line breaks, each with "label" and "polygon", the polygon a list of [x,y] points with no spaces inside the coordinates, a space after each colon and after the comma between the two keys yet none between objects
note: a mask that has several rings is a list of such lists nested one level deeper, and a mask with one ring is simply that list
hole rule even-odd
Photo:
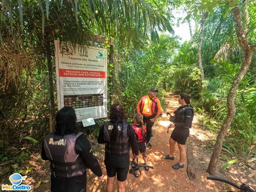
[{"label": "child in red life vest, seen from behind", "polygon": [[[146,136],[146,127],[144,126],[144,123],[142,120],[143,120],[143,116],[141,114],[138,114],[138,113],[135,114],[133,117],[134,126],[132,126],[132,128],[135,131],[135,136],[139,145],[139,150],[145,162],[144,164],[148,165],[147,158],[143,155],[146,141],[147,141],[147,136]],[[138,163],[136,159],[135,159],[135,162]],[[149,170],[148,167],[144,167],[144,168],[146,171]],[[139,171],[135,171],[134,176],[138,178]]]}]

